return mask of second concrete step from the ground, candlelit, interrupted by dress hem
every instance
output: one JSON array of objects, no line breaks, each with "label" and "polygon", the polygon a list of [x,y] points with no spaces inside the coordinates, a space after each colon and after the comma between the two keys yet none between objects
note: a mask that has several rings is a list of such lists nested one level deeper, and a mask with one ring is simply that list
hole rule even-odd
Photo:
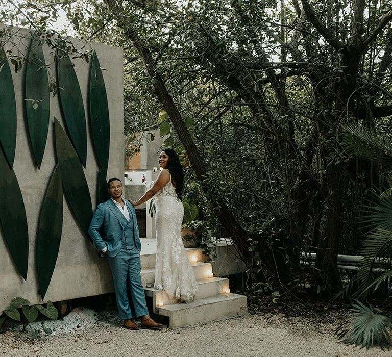
[{"label": "second concrete step from the ground, candlelit, interrupted by dress hem", "polygon": [[[204,299],[206,297],[224,294],[227,289],[229,289],[229,279],[220,277],[209,277],[199,279],[198,291],[195,295],[195,299]],[[159,304],[169,305],[174,303],[180,303],[180,299],[170,297],[165,293],[164,290],[156,290],[153,287],[144,288],[144,293],[146,296],[153,298],[153,306],[159,306]]]}]

